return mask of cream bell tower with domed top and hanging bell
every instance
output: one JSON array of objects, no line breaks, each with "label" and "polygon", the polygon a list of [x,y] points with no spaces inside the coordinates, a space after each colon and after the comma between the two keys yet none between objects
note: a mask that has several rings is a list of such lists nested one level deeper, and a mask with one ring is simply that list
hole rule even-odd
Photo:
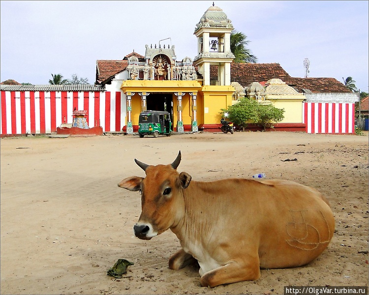
[{"label": "cream bell tower with domed top and hanging bell", "polygon": [[198,55],[193,63],[204,78],[204,86],[210,86],[210,65],[218,66],[217,85],[231,85],[231,32],[233,25],[217,6],[210,6],[196,25],[194,35],[198,41]]}]

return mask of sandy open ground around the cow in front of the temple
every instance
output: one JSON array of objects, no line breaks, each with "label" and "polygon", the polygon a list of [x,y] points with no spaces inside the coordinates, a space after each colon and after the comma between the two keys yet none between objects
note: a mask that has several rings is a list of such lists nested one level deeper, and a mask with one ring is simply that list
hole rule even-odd
[{"label": "sandy open ground around the cow in front of the temple", "polygon": [[[1,294],[283,294],[283,286],[368,286],[368,133],[237,132],[145,137],[4,138],[1,144]],[[289,179],[326,195],[336,219],[328,248],[307,266],[264,269],[257,281],[201,287],[198,267],[168,268],[170,231],[133,235],[144,176],[134,158],[195,180]],[[285,161],[287,159],[295,161]],[[107,275],[120,259],[122,279]]]}]

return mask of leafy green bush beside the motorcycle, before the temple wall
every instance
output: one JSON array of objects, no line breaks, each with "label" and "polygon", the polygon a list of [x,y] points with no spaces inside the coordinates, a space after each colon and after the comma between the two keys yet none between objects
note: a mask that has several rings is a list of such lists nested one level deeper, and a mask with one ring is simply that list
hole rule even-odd
[{"label": "leafy green bush beside the motorcycle, before the temple wall", "polygon": [[239,125],[243,131],[249,123],[259,124],[266,128],[273,128],[274,124],[284,118],[284,109],[278,109],[273,105],[262,105],[254,99],[243,97],[239,102],[221,109],[220,114],[228,114],[228,119]]}]

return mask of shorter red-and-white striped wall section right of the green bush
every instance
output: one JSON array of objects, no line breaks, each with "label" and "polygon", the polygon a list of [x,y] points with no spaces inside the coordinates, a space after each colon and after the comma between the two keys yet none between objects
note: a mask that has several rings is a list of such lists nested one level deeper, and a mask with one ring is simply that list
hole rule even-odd
[{"label": "shorter red-and-white striped wall section right of the green bush", "polygon": [[307,133],[355,133],[354,103],[303,103]]}]

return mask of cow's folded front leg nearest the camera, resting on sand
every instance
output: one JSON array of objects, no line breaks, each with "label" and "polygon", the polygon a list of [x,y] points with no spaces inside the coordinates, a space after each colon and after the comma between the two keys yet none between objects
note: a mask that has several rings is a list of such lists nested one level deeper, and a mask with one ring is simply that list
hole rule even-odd
[{"label": "cow's folded front leg nearest the camera, resting on sand", "polygon": [[260,278],[259,257],[245,262],[233,261],[225,266],[205,272],[201,276],[201,286],[215,287],[241,281],[254,281]]}]

